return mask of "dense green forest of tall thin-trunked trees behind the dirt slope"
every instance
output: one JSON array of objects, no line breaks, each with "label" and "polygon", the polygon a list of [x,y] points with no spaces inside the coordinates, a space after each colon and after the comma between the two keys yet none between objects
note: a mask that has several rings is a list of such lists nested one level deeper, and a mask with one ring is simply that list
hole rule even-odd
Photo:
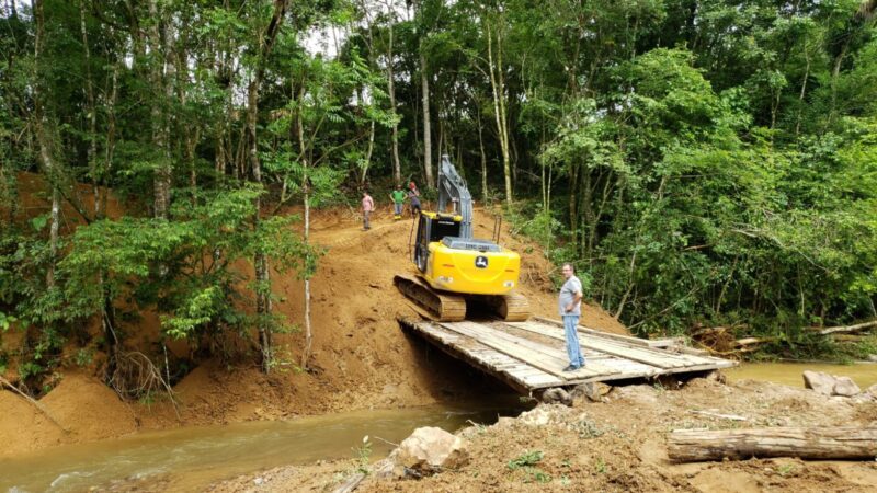
[{"label": "dense green forest of tall thin-trunked trees behind the dirt slope", "polygon": [[639,334],[801,354],[877,317],[875,0],[0,3],[0,329],[26,333],[0,365],[22,381],[83,320],[124,379],[147,309],[270,371],[293,329],[272,273],[307,290],[323,253],[310,208],[409,179],[429,198],[445,153]]}]

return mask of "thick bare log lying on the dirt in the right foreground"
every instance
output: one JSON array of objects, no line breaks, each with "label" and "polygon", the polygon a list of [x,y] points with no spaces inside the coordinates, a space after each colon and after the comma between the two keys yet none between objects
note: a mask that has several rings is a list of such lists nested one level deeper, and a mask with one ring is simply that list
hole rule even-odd
[{"label": "thick bare log lying on the dirt in the right foreground", "polygon": [[679,462],[752,457],[874,460],[877,427],[676,429],[670,435],[668,456]]}]

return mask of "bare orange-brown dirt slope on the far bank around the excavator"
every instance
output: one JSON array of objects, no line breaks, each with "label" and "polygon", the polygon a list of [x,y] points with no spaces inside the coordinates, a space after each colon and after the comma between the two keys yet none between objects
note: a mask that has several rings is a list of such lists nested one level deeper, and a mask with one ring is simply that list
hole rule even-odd
[{"label": "bare orange-brown dirt slope on the far bank around the excavator", "polygon": [[[505,391],[501,383],[440,352],[428,351],[425,343],[400,331],[397,316],[414,312],[392,286],[392,276],[412,272],[408,261],[411,220],[394,221],[378,215],[369,231],[362,231],[358,220],[353,213],[344,210],[317,213],[312,218],[311,240],[328,251],[311,282],[314,353],[309,372],[295,368],[301,357],[304,334],[277,336],[281,358],[287,365],[265,376],[253,364],[227,368],[207,362],[176,386],[181,402],[178,417],[173,408],[160,399],[148,404],[124,404],[96,376],[84,376],[71,368],[62,371],[60,385],[43,399],[46,408],[54,410],[71,433],[56,429],[57,426],[33,406],[3,391],[0,392],[0,439],[8,439],[3,442],[5,446],[0,456],[119,436],[135,429],[422,405]],[[493,220],[489,215],[476,211],[476,236],[490,237],[489,226]],[[508,230],[501,243],[522,254],[522,291],[529,298],[534,313],[555,316],[553,266],[538,249],[510,238]],[[301,326],[303,283],[295,273],[275,275],[272,282],[282,297],[275,310]],[[583,323],[625,332],[620,324],[596,308],[585,310]],[[140,324],[137,330],[141,334],[157,334],[155,314],[144,313]],[[148,339],[138,339],[144,351],[147,351]],[[184,347],[176,347],[176,351],[182,352]],[[96,410],[101,410],[100,426],[95,424]]]}]

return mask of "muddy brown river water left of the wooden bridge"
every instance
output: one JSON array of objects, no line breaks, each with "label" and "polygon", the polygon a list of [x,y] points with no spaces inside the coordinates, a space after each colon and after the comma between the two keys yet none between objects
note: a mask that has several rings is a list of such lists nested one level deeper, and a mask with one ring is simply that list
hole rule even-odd
[{"label": "muddy brown river water left of the wooden bridge", "polygon": [[524,408],[516,397],[500,404],[435,405],[358,411],[285,422],[147,432],[135,436],[57,447],[0,459],[0,492],[80,492],[171,478],[174,491],[200,491],[224,478],[283,465],[358,457],[363,437],[371,457],[386,456],[420,426],[454,432]]}]

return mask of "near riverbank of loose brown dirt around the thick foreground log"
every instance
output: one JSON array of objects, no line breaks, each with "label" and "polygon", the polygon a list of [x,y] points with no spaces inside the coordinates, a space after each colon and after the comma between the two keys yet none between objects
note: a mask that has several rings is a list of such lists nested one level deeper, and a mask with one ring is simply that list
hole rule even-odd
[{"label": "near riverbank of loose brown dirt around the thick foreground log", "polygon": [[[877,402],[856,403],[753,380],[695,379],[681,389],[619,387],[605,402],[577,400],[571,408],[543,404],[514,420],[466,428],[460,435],[469,442],[470,461],[459,470],[421,480],[368,478],[356,491],[873,491],[875,461],[781,458],[677,465],[667,457],[672,429],[842,424],[877,426]],[[281,467],[219,482],[208,491],[332,491],[361,466],[352,457]]]}]

